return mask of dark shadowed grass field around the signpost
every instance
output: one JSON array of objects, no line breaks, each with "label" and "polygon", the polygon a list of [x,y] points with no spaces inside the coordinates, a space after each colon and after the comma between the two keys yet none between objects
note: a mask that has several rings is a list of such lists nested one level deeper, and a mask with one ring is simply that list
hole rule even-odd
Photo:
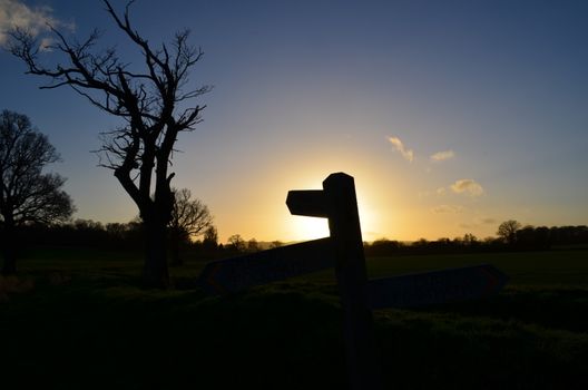
[{"label": "dark shadowed grass field around the signpost", "polygon": [[[587,389],[588,251],[369,259],[370,277],[491,263],[492,299],[375,312],[390,389]],[[0,280],[2,389],[345,389],[332,271],[207,298],[204,263],[140,289],[140,257],[31,251]]]}]

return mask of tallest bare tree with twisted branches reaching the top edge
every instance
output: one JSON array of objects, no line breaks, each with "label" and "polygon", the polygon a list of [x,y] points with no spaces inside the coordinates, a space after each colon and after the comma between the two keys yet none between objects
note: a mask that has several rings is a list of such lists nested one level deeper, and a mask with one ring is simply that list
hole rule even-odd
[{"label": "tallest bare tree with twisted branches reaching the top edge", "polygon": [[166,227],[174,203],[174,173],[169,172],[174,144],[179,133],[194,129],[206,107],[179,106],[210,87],[188,88],[189,71],[203,57],[199,48],[188,43],[189,31],[177,32],[168,45],[154,47],[130,22],[133,2],[128,1],[119,13],[104,0],[116,26],[143,56],[144,70],[131,70],[112,48],[96,50],[100,37],[97,30],[78,42],[51,28],[56,43],[49,51],[65,57],[65,62],[56,66],[43,65],[39,43],[24,30],[11,31],[10,50],[24,61],[28,74],[51,80],[41,88],[69,86],[101,110],[122,119],[119,128],[102,133],[100,165],[114,170],[139,208],[146,233],[144,282],[165,287],[169,283]]}]

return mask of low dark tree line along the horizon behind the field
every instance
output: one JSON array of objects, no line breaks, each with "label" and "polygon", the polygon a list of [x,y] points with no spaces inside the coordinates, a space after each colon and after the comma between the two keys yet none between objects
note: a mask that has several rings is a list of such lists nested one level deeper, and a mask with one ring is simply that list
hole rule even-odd
[{"label": "low dark tree line along the horizon behind the field", "polygon": [[[507,221],[501,224],[501,226]],[[282,241],[261,242],[256,238],[245,240],[239,234],[231,235],[225,243],[218,240],[218,232],[214,224],[197,235],[190,235],[188,230],[182,233],[168,232],[170,242],[177,240],[175,251],[170,259],[171,265],[182,265],[185,254],[196,259],[218,259],[258,252],[287,245]],[[394,254],[439,254],[457,252],[492,252],[492,251],[545,251],[553,247],[585,246],[588,245],[588,226],[520,226],[512,235],[501,235],[500,228],[497,236],[478,238],[471,233],[461,237],[438,240],[420,238],[413,242],[379,238],[364,242],[364,252],[367,256],[382,256]],[[20,230],[27,237],[30,246],[77,246],[106,250],[136,251],[141,247],[145,240],[140,218],[136,217],[128,223],[106,223],[92,220],[75,220],[59,224],[27,224]],[[175,236],[177,235],[177,236]]]}]

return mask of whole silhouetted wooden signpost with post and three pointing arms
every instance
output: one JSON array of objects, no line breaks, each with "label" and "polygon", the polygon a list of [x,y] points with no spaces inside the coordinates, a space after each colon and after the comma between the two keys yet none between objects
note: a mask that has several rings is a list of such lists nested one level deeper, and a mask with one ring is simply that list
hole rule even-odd
[{"label": "whole silhouetted wooden signpost with post and three pointing arms", "polygon": [[479,299],[507,283],[488,264],[367,281],[355,185],[346,174],[330,175],[321,191],[291,191],[286,205],[294,215],[329,218],[330,237],[210,262],[198,283],[210,294],[226,294],[334,266],[352,389],[382,388],[373,309]]}]

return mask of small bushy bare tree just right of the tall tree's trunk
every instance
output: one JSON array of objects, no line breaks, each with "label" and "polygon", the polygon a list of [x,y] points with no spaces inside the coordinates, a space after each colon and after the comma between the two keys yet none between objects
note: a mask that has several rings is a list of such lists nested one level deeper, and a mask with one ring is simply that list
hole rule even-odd
[{"label": "small bushy bare tree just right of the tall tree's trunk", "polygon": [[179,257],[179,244],[192,237],[202,235],[213,225],[213,216],[208,207],[198,199],[192,199],[188,188],[173,189],[174,207],[169,222],[171,240],[171,264],[183,263]]}]

